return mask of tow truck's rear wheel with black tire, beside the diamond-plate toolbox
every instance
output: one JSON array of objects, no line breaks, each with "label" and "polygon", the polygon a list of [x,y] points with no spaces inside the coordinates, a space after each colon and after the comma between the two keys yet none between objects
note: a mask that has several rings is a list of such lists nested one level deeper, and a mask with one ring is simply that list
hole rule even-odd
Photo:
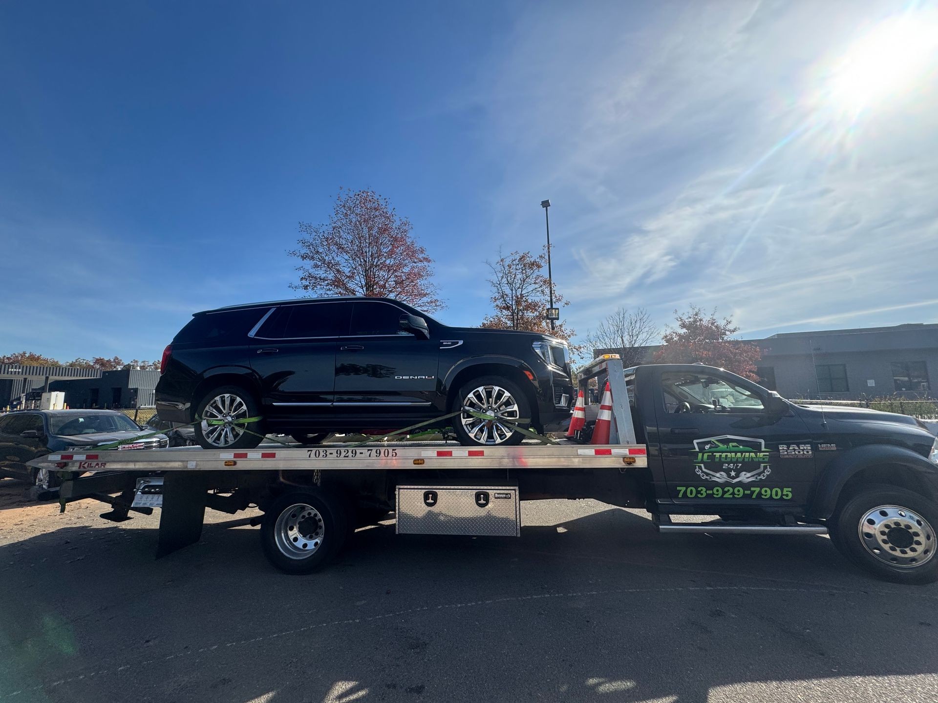
[{"label": "tow truck's rear wheel with black tire, beside the diamond-plate toolbox", "polygon": [[261,546],[285,574],[310,574],[335,557],[349,532],[347,502],[318,489],[285,493],[266,509]]}]

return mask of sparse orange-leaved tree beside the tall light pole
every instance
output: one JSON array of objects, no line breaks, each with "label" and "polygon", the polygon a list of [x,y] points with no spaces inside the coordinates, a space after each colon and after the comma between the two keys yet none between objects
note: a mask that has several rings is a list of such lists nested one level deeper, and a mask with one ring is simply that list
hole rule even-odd
[{"label": "sparse orange-leaved tree beside the tall light pole", "polygon": [[[494,312],[482,322],[483,327],[539,332],[567,340],[576,334],[562,321],[555,322],[551,330],[551,322],[544,318],[551,293],[550,281],[543,274],[547,266],[547,247],[544,248],[545,251],[537,256],[530,251],[512,251],[505,256],[499,250],[496,262],[486,262],[492,269],[489,283]],[[568,305],[554,286],[553,307]]]}]

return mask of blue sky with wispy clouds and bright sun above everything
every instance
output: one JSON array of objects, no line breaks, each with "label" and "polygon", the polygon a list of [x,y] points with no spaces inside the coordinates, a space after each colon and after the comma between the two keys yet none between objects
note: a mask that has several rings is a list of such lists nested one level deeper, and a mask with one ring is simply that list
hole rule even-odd
[{"label": "blue sky with wispy clouds and bright sun above everything", "polygon": [[292,297],[339,187],[411,218],[453,324],[545,198],[580,333],[617,306],[936,322],[936,12],[4,3],[0,353],[158,358],[193,311]]}]

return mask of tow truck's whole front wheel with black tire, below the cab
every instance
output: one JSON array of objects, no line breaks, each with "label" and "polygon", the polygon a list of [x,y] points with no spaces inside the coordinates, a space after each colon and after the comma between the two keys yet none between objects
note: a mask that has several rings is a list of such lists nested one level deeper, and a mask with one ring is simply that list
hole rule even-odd
[{"label": "tow truck's whole front wheel with black tire, below the cab", "polygon": [[898,486],[869,486],[829,521],[840,552],[870,573],[906,584],[938,580],[938,505]]}]

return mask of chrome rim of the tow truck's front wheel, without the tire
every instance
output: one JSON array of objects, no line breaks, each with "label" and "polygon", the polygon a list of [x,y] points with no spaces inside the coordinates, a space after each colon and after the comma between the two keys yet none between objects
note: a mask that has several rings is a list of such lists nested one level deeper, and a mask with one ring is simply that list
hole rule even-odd
[{"label": "chrome rim of the tow truck's front wheel, without the tire", "polygon": [[880,505],[860,518],[860,541],[891,566],[921,566],[934,556],[935,533],[928,521],[899,505]]}]

